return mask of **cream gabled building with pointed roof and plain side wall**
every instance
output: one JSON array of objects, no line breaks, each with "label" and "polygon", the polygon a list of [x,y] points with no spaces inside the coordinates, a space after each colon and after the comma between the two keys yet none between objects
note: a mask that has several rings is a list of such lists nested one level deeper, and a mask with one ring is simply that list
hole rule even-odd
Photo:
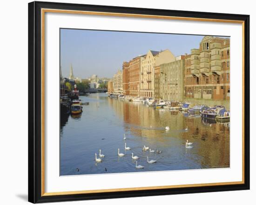
[{"label": "cream gabled building with pointed roof and plain side wall", "polygon": [[141,60],[140,96],[155,97],[155,67],[175,61],[171,51],[148,51]]}]

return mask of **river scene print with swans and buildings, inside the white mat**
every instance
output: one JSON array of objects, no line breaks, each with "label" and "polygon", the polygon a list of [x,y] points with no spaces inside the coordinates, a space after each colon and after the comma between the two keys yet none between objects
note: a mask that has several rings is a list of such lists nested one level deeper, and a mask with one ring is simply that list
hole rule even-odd
[{"label": "river scene print with swans and buildings, inside the white mat", "polygon": [[230,37],[60,29],[60,175],[230,166]]}]

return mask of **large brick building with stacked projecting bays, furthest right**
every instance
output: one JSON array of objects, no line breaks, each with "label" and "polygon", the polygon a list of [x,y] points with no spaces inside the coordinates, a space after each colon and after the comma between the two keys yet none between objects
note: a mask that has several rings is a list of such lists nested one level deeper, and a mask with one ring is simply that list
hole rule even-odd
[{"label": "large brick building with stacked projecting bays, furthest right", "polygon": [[185,57],[185,97],[195,103],[222,104],[229,109],[229,38],[205,36],[199,49]]}]

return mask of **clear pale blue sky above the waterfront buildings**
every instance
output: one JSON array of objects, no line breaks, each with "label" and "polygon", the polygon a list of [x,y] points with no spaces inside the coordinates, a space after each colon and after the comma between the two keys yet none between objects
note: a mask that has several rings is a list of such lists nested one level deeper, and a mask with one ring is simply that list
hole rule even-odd
[{"label": "clear pale blue sky above the waterfront buildings", "polygon": [[[122,63],[148,50],[169,49],[175,56],[199,48],[204,36],[142,32],[93,31],[61,29],[61,71],[68,77],[73,66],[74,77],[93,74],[112,78]],[[227,37],[224,37],[227,38]]]}]

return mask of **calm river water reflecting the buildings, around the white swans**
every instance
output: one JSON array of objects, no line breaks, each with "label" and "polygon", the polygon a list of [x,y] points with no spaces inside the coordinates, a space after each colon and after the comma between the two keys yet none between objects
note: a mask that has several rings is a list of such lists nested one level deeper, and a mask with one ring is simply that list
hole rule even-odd
[{"label": "calm river water reflecting the buildings, around the white swans", "polygon": [[[229,167],[229,123],[205,122],[199,115],[111,99],[105,93],[80,99],[90,102],[83,105],[83,113],[61,119],[61,175]],[[131,150],[124,149],[124,133]],[[185,148],[186,140],[193,148]],[[144,152],[144,145],[162,153]],[[118,148],[124,157],[118,156]],[[96,163],[99,149],[105,157]],[[135,168],[132,152],[144,169]],[[157,162],[148,164],[147,156]]]}]

